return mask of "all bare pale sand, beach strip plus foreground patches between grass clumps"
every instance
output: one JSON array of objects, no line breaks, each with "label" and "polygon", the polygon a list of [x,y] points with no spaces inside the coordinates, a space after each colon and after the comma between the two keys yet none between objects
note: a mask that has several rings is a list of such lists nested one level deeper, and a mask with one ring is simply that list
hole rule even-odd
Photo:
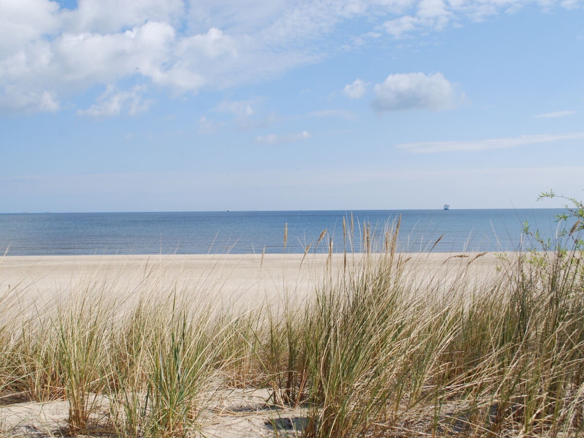
[{"label": "all bare pale sand, beach strip plus foreground patches between grass clumps", "polygon": [[[447,284],[461,275],[492,279],[502,265],[495,253],[404,254],[411,277]],[[349,256],[359,262],[362,255]],[[23,305],[50,303],[80,286],[102,285],[108,293],[139,293],[142,287],[170,290],[173,285],[226,305],[256,306],[284,294],[302,300],[319,284],[327,266],[343,270],[343,255],[164,255],[164,256],[5,256],[0,262],[0,291],[16,290]],[[330,271],[329,271],[330,276]],[[104,286],[105,285],[105,286]],[[216,406],[204,434],[221,437],[294,436],[303,418],[292,409],[266,404],[266,390],[216,393]],[[107,412],[107,401],[96,410]],[[66,427],[68,403],[0,399],[0,426],[6,436],[50,436]],[[275,429],[274,429],[275,427]],[[2,432],[0,432],[0,435]]]}]

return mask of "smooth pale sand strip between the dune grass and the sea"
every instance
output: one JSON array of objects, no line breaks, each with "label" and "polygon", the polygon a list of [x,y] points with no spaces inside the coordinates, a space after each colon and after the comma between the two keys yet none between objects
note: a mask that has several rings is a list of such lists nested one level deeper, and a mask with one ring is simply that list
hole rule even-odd
[{"label": "smooth pale sand strip between the dune grass and the sea", "polygon": [[[482,254],[482,255],[479,255]],[[457,277],[462,270],[477,280],[501,265],[496,253],[401,253],[404,270],[419,281]],[[371,257],[376,257],[372,255]],[[355,265],[362,254],[347,255]],[[17,288],[25,296],[50,300],[83,284],[106,284],[112,294],[138,291],[155,278],[161,289],[178,285],[239,304],[258,304],[284,292],[304,296],[322,281],[327,266],[342,272],[342,254],[262,255],[115,255],[5,256],[0,261],[0,290]]]}]

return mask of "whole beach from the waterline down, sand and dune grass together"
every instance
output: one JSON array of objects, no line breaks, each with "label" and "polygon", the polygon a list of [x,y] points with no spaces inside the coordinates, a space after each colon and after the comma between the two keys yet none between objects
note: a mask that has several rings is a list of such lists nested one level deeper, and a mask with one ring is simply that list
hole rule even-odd
[{"label": "whole beach from the waterline down, sand and dune grass together", "polygon": [[[505,376],[553,385],[579,362],[530,380],[547,363],[533,346],[564,335],[546,325],[554,259],[518,256],[5,256],[0,436],[519,433],[518,407],[494,413],[516,391]],[[579,324],[566,297],[560,327]],[[526,305],[540,328],[522,334]]]}]

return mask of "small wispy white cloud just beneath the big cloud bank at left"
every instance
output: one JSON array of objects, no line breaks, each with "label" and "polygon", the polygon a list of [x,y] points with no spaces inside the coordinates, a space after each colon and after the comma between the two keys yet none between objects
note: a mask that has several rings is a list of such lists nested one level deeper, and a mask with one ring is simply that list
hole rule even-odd
[{"label": "small wispy white cloud just beneath the big cloud bank at left", "polygon": [[135,116],[147,111],[150,106],[151,100],[142,97],[144,91],[143,86],[134,86],[130,91],[121,91],[108,85],[94,105],[86,110],[79,110],[78,114],[93,117],[112,117],[120,114]]}]

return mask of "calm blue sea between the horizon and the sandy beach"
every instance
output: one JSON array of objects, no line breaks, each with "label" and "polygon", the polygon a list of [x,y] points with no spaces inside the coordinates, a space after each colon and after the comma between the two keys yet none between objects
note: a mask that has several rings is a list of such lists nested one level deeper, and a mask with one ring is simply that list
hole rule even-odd
[{"label": "calm blue sea between the horizon and the sandy beach", "polygon": [[[554,238],[555,215],[564,210],[357,210],[215,211],[165,213],[0,214],[0,251],[8,255],[109,255],[326,252],[316,248],[323,230],[333,251],[343,251],[343,217],[353,216],[353,249],[361,251],[363,224],[381,234],[401,216],[402,252],[512,251],[530,245],[527,221]],[[287,245],[284,250],[284,225]],[[350,225],[349,225],[350,227]]]}]

